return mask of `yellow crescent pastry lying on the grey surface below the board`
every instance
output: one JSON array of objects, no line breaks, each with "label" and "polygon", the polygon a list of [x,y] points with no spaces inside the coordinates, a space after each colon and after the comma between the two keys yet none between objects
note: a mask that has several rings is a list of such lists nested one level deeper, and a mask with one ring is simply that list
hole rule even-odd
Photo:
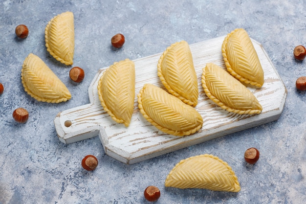
[{"label": "yellow crescent pastry lying on the grey surface below the board", "polygon": [[232,168],[218,157],[208,154],[181,160],[168,174],[165,186],[240,191],[238,178]]}]

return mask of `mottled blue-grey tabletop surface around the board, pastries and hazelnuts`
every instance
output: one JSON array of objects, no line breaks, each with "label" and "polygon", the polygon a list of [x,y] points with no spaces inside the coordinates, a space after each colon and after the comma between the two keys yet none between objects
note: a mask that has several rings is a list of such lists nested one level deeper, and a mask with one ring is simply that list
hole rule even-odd
[{"label": "mottled blue-grey tabletop surface around the board, pastries and hazelnuts", "polygon": [[[44,27],[57,14],[74,13],[73,66],[85,79],[71,83],[64,66],[47,53]],[[301,204],[306,200],[306,93],[295,81],[306,75],[306,61],[293,58],[306,45],[306,4],[302,0],[1,0],[0,2],[0,204],[146,204],[148,185],[161,190],[156,204]],[[26,24],[29,36],[15,37]],[[133,165],[105,155],[98,137],[65,145],[53,119],[60,111],[89,103],[87,89],[99,68],[125,58],[137,59],[180,40],[189,44],[226,35],[242,27],[262,43],[288,91],[284,111],[275,122],[184,148]],[[113,49],[110,38],[123,33],[126,43]],[[38,55],[66,84],[72,99],[38,102],[24,92],[21,68],[29,53]],[[12,118],[23,107],[25,124]],[[255,165],[244,151],[257,147]],[[169,171],[181,159],[213,154],[228,162],[239,178],[239,193],[165,188]],[[87,172],[81,160],[99,160]]]}]

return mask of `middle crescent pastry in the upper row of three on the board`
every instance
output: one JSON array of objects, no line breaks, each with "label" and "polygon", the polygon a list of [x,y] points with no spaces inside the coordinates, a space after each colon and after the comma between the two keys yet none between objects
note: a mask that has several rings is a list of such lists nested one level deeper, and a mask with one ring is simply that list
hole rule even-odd
[{"label": "middle crescent pastry in the upper row of three on the board", "polygon": [[172,95],[188,105],[197,105],[197,74],[186,41],[174,43],[164,51],[157,64],[157,74]]}]

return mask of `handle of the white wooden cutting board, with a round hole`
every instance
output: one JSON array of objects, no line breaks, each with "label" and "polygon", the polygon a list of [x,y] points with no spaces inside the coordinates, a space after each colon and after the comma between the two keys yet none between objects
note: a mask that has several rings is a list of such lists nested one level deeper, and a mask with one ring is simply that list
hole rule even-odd
[{"label": "handle of the white wooden cutting board, with a round hole", "polygon": [[101,105],[87,104],[60,112],[54,125],[60,141],[69,144],[99,135],[109,123]]}]

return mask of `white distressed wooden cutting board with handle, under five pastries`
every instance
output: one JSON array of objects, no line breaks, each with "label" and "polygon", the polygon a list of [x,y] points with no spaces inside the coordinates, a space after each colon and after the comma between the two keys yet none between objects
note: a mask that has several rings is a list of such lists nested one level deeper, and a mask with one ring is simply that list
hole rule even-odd
[{"label": "white distressed wooden cutting board with handle, under five pastries", "polygon": [[[287,91],[262,45],[253,39],[251,40],[264,70],[264,84],[261,89],[254,87],[248,89],[261,103],[262,113],[258,115],[230,113],[219,108],[206,96],[201,86],[202,68],[207,63],[215,63],[225,69],[221,54],[224,38],[225,36],[190,45],[199,89],[198,104],[195,108],[204,121],[203,127],[197,133],[184,137],[164,134],[151,125],[138,110],[137,94],[144,84],[151,83],[165,89],[157,76],[157,62],[162,54],[158,53],[133,60],[136,71],[135,103],[128,128],[114,122],[100,104],[97,84],[103,71],[108,68],[106,67],[98,70],[89,86],[90,104],[60,112],[55,117],[54,124],[59,139],[68,144],[99,136],[107,155],[132,164],[277,120],[283,111]],[[118,59],[120,60],[124,59]],[[66,121],[71,122],[69,127],[65,126]]]}]

